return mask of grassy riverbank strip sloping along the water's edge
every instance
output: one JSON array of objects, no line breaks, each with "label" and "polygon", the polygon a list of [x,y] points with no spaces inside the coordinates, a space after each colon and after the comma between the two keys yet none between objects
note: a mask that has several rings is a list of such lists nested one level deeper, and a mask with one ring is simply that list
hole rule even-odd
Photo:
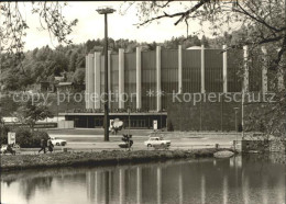
[{"label": "grassy riverbank strip sloping along the water's edge", "polygon": [[1,171],[58,167],[105,166],[128,162],[139,163],[184,158],[211,158],[217,151],[217,149],[211,148],[191,150],[102,150],[94,152],[80,151],[15,156],[2,155]]}]

